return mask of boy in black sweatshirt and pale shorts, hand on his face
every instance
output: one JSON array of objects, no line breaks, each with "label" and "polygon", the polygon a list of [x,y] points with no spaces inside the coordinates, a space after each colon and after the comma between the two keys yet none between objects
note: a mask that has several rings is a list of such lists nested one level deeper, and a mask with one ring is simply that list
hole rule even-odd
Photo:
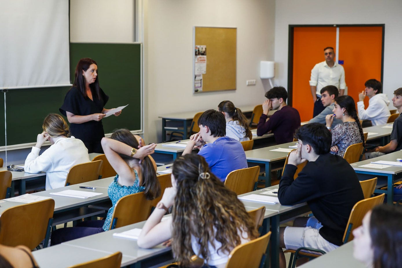
[{"label": "boy in black sweatshirt and pale shorts, hand on his face", "polygon": [[[286,266],[282,248],[317,248],[330,252],[343,244],[343,233],[353,206],[364,198],[351,165],[330,152],[331,133],[320,123],[301,126],[295,134],[297,150],[289,154],[279,182],[282,205],[307,202],[314,217],[295,219],[293,227],[279,230],[279,267]],[[308,161],[294,179],[297,165]],[[327,172],[325,172],[327,171]]]}]

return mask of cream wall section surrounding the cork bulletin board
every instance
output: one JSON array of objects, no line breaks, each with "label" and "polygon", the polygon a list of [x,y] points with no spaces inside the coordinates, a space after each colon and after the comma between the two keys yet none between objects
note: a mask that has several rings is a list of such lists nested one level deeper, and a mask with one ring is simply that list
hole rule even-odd
[{"label": "cream wall section surrounding the cork bulletin board", "polygon": [[[144,6],[146,142],[161,141],[160,115],[206,110],[222,100],[259,104],[261,60],[274,56],[274,0],[149,0]],[[193,27],[237,27],[237,90],[193,94]],[[256,86],[246,80],[256,79]]]}]

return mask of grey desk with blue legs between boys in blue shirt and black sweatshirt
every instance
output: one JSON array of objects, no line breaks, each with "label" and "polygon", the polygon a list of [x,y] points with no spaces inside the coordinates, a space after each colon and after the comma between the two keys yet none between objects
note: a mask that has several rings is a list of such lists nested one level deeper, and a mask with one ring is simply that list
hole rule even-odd
[{"label": "grey desk with blue legs between boys in blue shirt and black sweatshirt", "polygon": [[265,165],[265,177],[259,177],[260,179],[265,180],[265,186],[271,186],[271,170],[272,168],[280,168],[283,167],[285,163],[285,159],[288,155],[288,152],[279,152],[279,151],[271,151],[275,148],[287,148],[289,146],[295,145],[294,141],[283,143],[279,145],[273,145],[269,147],[254,149],[250,151],[246,151],[246,159],[248,163],[258,163]]}]

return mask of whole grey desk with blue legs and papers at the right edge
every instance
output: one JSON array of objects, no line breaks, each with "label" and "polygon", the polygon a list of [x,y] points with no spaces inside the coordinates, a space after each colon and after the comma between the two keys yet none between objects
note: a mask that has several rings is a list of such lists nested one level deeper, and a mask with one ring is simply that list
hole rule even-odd
[{"label": "whole grey desk with blue legs and papers at the right edge", "polygon": [[[352,168],[357,173],[359,180],[367,180],[369,178],[378,177],[377,187],[387,186],[387,190],[379,190],[375,189],[375,193],[386,193],[387,194],[387,203],[392,204],[394,200],[394,182],[400,180],[402,178],[402,167],[401,166],[388,166],[387,168],[379,169],[379,168],[365,168],[361,167],[365,164],[370,164],[370,162],[375,162],[379,160],[384,161],[396,161],[396,158],[402,158],[402,151],[396,151],[394,153],[388,153],[386,155],[382,155],[376,158],[371,158],[368,160],[360,161],[357,163],[351,164]],[[367,176],[371,175],[371,176]],[[386,177],[386,181],[381,179],[381,177]]]}]

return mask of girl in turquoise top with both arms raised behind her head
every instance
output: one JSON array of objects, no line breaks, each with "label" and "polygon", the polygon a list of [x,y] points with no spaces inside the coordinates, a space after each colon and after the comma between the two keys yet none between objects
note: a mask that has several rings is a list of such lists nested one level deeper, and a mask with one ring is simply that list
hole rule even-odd
[{"label": "girl in turquoise top with both arms raised behind her head", "polygon": [[156,169],[148,157],[154,152],[156,144],[142,146],[127,129],[115,130],[110,139],[104,137],[101,144],[107,160],[118,173],[107,191],[112,207],[107,212],[105,220],[83,221],[76,227],[53,231],[51,245],[108,231],[115,205],[126,195],[144,192],[148,200],[160,196],[161,188],[156,178]]}]

